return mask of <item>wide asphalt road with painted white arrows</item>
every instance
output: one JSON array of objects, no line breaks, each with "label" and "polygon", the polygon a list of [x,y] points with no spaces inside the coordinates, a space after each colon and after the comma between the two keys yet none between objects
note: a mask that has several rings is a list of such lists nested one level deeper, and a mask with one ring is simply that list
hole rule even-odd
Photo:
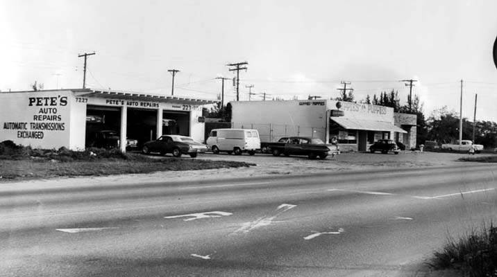
[{"label": "wide asphalt road with painted white arrows", "polygon": [[0,188],[1,276],[424,276],[496,166]]}]

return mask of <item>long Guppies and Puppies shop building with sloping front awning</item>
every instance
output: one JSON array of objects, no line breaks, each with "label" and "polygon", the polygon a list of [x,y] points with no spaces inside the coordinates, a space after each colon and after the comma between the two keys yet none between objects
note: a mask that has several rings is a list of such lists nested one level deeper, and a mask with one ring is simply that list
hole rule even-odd
[{"label": "long Guppies and Puppies shop building with sloping front awning", "polygon": [[400,141],[407,149],[416,145],[416,115],[394,116],[391,107],[338,100],[230,103],[232,127],[258,129],[261,141],[309,136],[330,143],[336,136],[342,150],[355,151],[366,151],[378,139]]}]

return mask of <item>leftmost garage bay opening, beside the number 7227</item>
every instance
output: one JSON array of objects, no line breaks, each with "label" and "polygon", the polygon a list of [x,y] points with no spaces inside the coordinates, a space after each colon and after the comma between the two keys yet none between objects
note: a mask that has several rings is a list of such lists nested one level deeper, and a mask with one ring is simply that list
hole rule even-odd
[{"label": "leftmost garage bay opening, beside the number 7227", "polygon": [[119,147],[121,109],[88,105],[86,108],[85,147]]}]

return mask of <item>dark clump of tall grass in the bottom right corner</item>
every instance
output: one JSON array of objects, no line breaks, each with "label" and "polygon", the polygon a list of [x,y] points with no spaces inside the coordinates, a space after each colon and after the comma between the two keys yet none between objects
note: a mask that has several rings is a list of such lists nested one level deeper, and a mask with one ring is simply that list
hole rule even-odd
[{"label": "dark clump of tall grass in the bottom right corner", "polygon": [[459,240],[448,238],[441,251],[435,251],[428,265],[434,269],[458,269],[464,276],[497,276],[497,227],[490,224],[471,231]]}]

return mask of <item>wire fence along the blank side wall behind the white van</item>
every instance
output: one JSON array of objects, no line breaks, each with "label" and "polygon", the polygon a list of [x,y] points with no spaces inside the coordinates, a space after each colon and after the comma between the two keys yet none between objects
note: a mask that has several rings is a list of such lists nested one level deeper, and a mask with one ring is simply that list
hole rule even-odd
[{"label": "wire fence along the blank side wall behind the white van", "polygon": [[326,139],[326,128],[287,124],[231,123],[232,128],[257,129],[260,141],[278,141],[283,136],[308,136]]}]

